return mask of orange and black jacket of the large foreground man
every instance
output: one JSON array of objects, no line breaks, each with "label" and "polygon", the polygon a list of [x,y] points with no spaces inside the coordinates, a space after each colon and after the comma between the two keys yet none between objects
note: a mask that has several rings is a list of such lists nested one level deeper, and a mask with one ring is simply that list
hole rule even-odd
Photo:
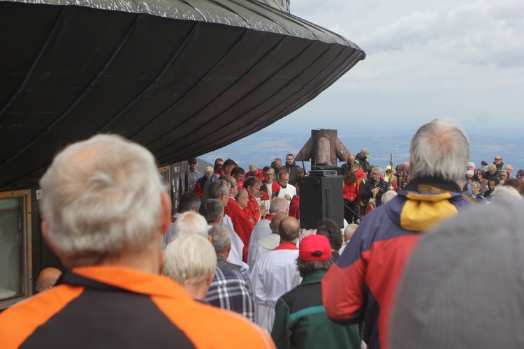
[{"label": "orange and black jacket of the large foreground man", "polygon": [[0,314],[1,348],[273,348],[240,315],[196,302],[166,276],[122,267],[65,272]]}]

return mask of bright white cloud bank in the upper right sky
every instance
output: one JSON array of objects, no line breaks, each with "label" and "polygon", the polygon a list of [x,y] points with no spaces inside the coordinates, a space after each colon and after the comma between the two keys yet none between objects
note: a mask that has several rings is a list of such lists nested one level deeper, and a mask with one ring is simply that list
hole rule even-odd
[{"label": "bright white cloud bank in the upper right sky", "polygon": [[370,53],[427,50],[460,64],[524,66],[523,13],[524,2],[516,0],[414,11],[375,28],[360,44]]}]

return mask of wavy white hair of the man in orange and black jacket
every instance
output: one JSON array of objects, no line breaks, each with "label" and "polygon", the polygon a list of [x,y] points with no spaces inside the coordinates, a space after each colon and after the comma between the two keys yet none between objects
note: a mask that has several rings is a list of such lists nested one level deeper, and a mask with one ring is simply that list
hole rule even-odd
[{"label": "wavy white hair of the man in orange and black jacket", "polygon": [[154,245],[164,189],[145,147],[95,135],[55,156],[40,186],[48,236],[71,267]]}]

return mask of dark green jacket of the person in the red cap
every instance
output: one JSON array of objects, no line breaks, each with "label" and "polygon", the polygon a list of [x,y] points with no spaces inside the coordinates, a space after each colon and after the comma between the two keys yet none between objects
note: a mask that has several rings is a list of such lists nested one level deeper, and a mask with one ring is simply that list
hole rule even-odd
[{"label": "dark green jacket of the person in the red cap", "polygon": [[300,285],[278,299],[271,332],[278,349],[361,348],[358,325],[338,325],[326,315],[320,285],[326,272],[306,275]]}]

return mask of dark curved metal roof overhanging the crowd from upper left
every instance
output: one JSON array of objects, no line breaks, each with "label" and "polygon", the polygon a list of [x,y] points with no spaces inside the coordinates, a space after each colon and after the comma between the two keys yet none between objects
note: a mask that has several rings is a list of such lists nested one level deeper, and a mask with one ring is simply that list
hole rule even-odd
[{"label": "dark curved metal roof overhanging the crowd from upper left", "polygon": [[246,0],[0,0],[0,188],[111,132],[171,163],[269,126],[365,53]]}]

